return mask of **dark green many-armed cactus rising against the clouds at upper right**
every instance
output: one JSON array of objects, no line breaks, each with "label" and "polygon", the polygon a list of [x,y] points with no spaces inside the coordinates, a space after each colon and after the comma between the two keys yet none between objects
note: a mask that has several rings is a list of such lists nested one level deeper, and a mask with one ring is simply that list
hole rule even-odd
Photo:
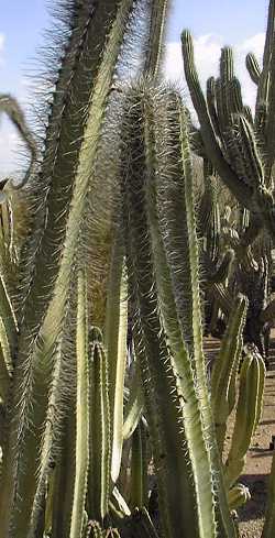
[{"label": "dark green many-armed cactus rising against the clouds at upper right", "polygon": [[[255,118],[242,102],[241,89],[233,73],[232,52],[221,52],[220,77],[208,83],[207,99],[201,90],[194,61],[193,41],[183,33],[185,75],[200,122],[205,152],[241,206],[263,223],[274,237],[274,0],[270,2],[263,69],[248,57],[252,78],[257,83]],[[264,118],[264,120],[263,120]],[[257,223],[257,229],[258,229]]]}]

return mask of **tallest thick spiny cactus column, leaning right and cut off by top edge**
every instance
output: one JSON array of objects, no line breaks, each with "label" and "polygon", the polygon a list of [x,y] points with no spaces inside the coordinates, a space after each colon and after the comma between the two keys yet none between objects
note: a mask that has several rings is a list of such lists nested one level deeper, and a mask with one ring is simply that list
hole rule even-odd
[{"label": "tallest thick spiny cactus column, leaning right and cut off by top edge", "polygon": [[[96,6],[92,1],[76,1],[64,13],[69,37],[54,92],[41,175],[36,189],[32,187],[35,221],[25,253],[29,290],[0,496],[0,536],[4,538],[9,528],[13,528],[14,537],[26,535],[36,486],[41,441],[37,432],[45,419],[51,361],[68,307],[87,194],[96,182],[92,171],[107,99],[133,6],[134,0],[103,1]],[[40,416],[33,406],[37,393]],[[30,422],[35,435],[30,431]],[[24,468],[29,470],[28,476]]]}]

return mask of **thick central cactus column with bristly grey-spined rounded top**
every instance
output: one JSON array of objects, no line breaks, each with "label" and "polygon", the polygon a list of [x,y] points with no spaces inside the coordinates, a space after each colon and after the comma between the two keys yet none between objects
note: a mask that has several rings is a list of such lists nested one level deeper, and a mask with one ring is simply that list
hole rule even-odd
[{"label": "thick central cactus column with bristly grey-spined rounded top", "polygon": [[[167,122],[167,153],[161,150],[163,139],[157,130],[157,110],[162,112],[163,121]],[[162,95],[144,84],[130,89],[122,139],[121,188],[134,343],[144,383],[163,525],[168,536],[178,532],[182,536],[191,532],[201,537],[216,536],[213,476],[208,453],[212,440],[207,435],[211,418],[207,411],[209,402],[201,353],[191,168],[180,98],[173,92]],[[172,158],[167,160],[166,155],[170,154]],[[164,182],[167,182],[165,186]],[[162,221],[156,208],[158,204],[160,208],[163,207],[163,188],[166,190],[166,217]],[[180,211],[180,207],[186,220],[183,217],[184,221],[173,220],[173,208]],[[185,251],[185,273],[176,274],[177,259],[170,256],[173,251],[175,253],[173,238],[175,242],[178,241],[176,256],[179,256],[180,249],[188,244],[185,243],[188,233],[190,243]],[[190,281],[194,287],[188,288]],[[193,311],[186,326],[183,323],[178,286],[184,289],[185,300],[189,301]],[[188,353],[189,349],[193,350],[194,360]],[[180,506],[185,507],[184,510]],[[228,536],[234,536],[226,506],[222,509]]]}]

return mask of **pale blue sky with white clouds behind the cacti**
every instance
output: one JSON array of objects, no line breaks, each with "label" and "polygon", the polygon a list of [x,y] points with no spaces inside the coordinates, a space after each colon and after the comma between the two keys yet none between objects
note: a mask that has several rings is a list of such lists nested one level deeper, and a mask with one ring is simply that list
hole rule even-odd
[{"label": "pale blue sky with white clouds behind the cacti", "polygon": [[[53,2],[53,0],[52,0]],[[46,0],[3,0],[0,19],[0,92],[11,92],[25,106],[26,77],[35,51],[43,44],[43,29],[48,26]],[[195,35],[195,51],[202,81],[212,74],[222,44],[232,44],[237,67],[244,80],[248,101],[253,88],[243,73],[245,53],[261,54],[268,0],[174,0],[167,32],[167,76],[182,80],[179,35],[189,28]],[[37,65],[37,59],[36,59]],[[16,163],[16,133],[1,119],[0,177],[13,171]],[[12,156],[13,154],[13,156]],[[14,158],[15,157],[15,158]]]}]

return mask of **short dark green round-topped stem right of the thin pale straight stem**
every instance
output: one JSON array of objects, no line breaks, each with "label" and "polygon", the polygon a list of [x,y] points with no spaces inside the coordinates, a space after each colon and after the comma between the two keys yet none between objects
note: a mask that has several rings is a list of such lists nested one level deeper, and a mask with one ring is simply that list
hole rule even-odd
[{"label": "short dark green round-topped stem right of the thin pale straight stem", "polygon": [[88,475],[88,512],[102,521],[110,496],[111,424],[108,358],[99,329],[90,332],[90,468]]}]

